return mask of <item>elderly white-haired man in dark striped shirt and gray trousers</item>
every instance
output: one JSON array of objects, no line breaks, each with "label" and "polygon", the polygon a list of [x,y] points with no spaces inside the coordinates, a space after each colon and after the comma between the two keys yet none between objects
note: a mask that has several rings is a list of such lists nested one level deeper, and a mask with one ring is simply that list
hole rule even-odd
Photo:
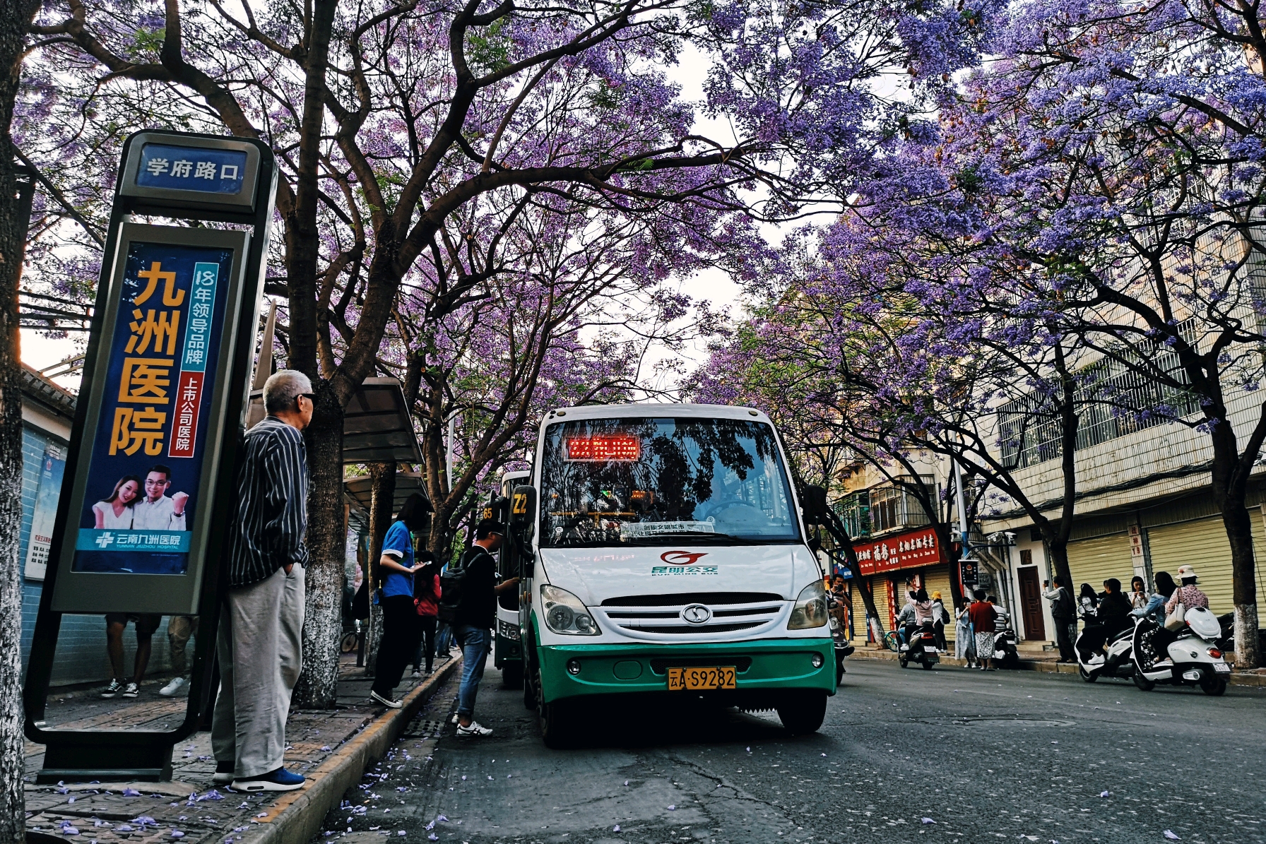
[{"label": "elderly white-haired man in dark striped shirt and gray trousers", "polygon": [[286,716],[303,664],[311,382],[281,369],[263,385],[263,421],[246,434],[237,519],[228,545],[228,595],[216,649],[220,691],[211,720],[214,781],[234,791],[294,791]]}]

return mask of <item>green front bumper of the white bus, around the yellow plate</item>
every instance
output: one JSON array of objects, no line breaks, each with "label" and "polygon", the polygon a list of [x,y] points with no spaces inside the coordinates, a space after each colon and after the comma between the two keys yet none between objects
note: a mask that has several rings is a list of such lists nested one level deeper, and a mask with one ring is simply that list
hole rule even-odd
[{"label": "green front bumper of the white bus, around the yellow plate", "polygon": [[[813,655],[822,666],[813,667]],[[718,696],[746,698],[766,691],[819,690],[836,693],[832,642],[761,639],[713,644],[566,644],[537,645],[546,701],[582,695],[667,692],[667,668],[676,664],[736,666],[736,686]],[[567,662],[580,662],[580,673]],[[713,692],[709,692],[713,693]]]}]

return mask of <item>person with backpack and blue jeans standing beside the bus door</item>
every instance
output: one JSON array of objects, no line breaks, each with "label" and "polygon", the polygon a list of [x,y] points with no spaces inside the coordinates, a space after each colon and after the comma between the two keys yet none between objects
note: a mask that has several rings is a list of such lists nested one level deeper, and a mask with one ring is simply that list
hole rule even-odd
[{"label": "person with backpack and blue jeans standing beside the bus door", "polygon": [[[484,663],[492,644],[496,624],[496,596],[517,588],[518,577],[500,586],[492,558],[505,542],[505,525],[485,519],[475,528],[475,543],[462,554],[458,572],[449,572],[441,588],[439,617],[453,629],[462,649],[462,683],[457,695],[457,735],[491,735],[492,730],[475,720],[475,696],[484,680]],[[454,595],[456,592],[456,595]]]}]

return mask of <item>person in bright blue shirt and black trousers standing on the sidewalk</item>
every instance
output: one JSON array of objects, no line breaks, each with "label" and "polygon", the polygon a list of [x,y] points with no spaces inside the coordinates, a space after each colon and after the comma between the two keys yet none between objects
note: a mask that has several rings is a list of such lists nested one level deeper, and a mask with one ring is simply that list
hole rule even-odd
[{"label": "person in bright blue shirt and black trousers standing on the sidewalk", "polygon": [[370,697],[389,709],[400,709],[404,702],[392,697],[400,685],[405,666],[418,649],[422,626],[413,605],[413,573],[425,563],[417,563],[413,555],[413,533],[427,526],[427,499],[414,492],[400,507],[396,520],[382,538],[382,638],[379,640],[379,659],[373,668],[373,686]]}]

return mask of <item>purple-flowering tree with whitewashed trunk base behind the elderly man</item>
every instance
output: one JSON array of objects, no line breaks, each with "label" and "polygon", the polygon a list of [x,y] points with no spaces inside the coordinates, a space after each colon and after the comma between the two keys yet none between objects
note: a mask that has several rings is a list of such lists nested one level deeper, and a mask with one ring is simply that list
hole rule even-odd
[{"label": "purple-flowering tree with whitewashed trunk base behind the elderly man", "polygon": [[[135,127],[257,137],[281,162],[267,290],[286,299],[287,366],[318,383],[299,705],[334,701],[342,407],[377,366],[403,281],[451,248],[449,218],[510,189],[613,214],[689,206],[665,230],[671,251],[733,214],[839,202],[910,108],[870,84],[913,49],[934,53],[961,18],[952,4],[899,1],[44,8],[19,143],[70,205],[99,201]],[[704,104],[684,102],[661,70],[687,43],[711,65]],[[695,132],[700,109],[725,134]]]}]

